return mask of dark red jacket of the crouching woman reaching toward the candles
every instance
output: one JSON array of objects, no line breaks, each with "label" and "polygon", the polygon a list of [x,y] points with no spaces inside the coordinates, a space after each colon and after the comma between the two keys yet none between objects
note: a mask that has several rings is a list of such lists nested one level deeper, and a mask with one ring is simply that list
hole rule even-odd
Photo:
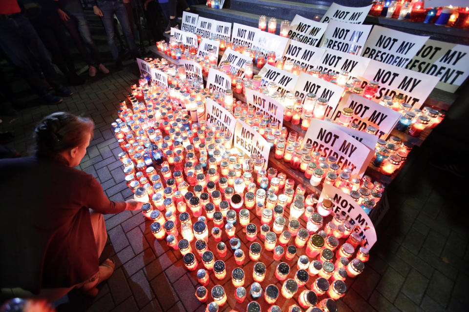
[{"label": "dark red jacket of the crouching woman reaching toward the candles", "polygon": [[0,160],[0,286],[70,287],[98,272],[98,252],[88,208],[115,214],[110,201],[83,171],[35,156]]}]

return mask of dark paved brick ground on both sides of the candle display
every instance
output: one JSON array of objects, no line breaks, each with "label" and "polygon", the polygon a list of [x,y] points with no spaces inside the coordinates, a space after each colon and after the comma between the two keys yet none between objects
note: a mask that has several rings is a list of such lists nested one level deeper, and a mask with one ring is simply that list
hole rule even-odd
[{"label": "dark paved brick ground on both sides of the candle display", "polygon": [[[72,87],[75,95],[60,105],[23,109],[15,120],[4,118],[0,130],[15,133],[9,146],[24,155],[33,147],[34,125],[47,114],[63,110],[92,117],[94,138],[79,167],[101,182],[110,199],[128,199],[132,193],[116,157],[120,148],[110,123],[118,100],[136,82],[131,70],[135,68],[128,66]],[[341,312],[467,311],[468,213],[464,193],[456,193],[463,181],[428,165],[437,148],[424,144],[413,151],[389,187],[391,209],[377,230],[365,271],[339,302]],[[105,218],[116,271],[92,301],[71,294],[76,310],[87,304],[87,311],[99,312],[204,310],[194,296],[194,273],[185,270],[179,252],[155,242],[140,212]]]}]

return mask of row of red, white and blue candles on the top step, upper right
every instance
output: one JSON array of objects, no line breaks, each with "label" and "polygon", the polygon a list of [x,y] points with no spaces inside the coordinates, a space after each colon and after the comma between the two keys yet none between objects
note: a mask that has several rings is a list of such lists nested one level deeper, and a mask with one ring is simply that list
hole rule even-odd
[{"label": "row of red, white and blue candles on the top step, upper right", "polygon": [[424,1],[374,1],[369,14],[398,20],[434,23],[435,25],[469,26],[469,7],[450,5],[448,7],[424,8]]}]

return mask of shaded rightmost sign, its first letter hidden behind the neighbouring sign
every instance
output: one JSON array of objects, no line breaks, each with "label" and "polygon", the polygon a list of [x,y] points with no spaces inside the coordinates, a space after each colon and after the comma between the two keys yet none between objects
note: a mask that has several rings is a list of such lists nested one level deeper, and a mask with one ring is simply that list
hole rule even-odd
[{"label": "shaded rightmost sign, its first letter hidden behind the neighbouring sign", "polygon": [[469,75],[469,46],[429,39],[405,68],[438,77],[438,89],[455,92]]}]

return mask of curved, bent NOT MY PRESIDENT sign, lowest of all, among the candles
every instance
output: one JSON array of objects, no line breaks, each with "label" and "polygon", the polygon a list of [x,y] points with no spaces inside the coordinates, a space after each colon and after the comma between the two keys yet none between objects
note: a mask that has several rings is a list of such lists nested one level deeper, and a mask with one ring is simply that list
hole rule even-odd
[{"label": "curved, bent NOT MY PRESIDENT sign, lowest of all, among the candles", "polygon": [[347,220],[353,220],[353,223],[360,228],[360,234],[363,237],[362,246],[371,249],[377,240],[376,230],[370,217],[366,215],[362,207],[350,195],[343,193],[330,184],[323,185],[318,204],[324,199],[329,199],[334,204],[332,208],[334,215],[345,215]]}]

